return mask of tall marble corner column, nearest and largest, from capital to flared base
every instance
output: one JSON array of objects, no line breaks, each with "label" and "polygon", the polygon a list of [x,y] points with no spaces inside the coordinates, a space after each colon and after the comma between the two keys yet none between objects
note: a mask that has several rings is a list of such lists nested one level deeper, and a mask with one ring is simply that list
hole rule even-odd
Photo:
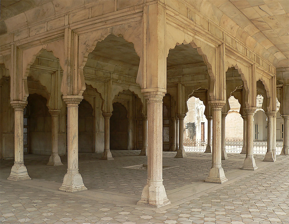
[{"label": "tall marble corner column, nearest and largest, from capital to flared base", "polygon": [[147,102],[147,183],[138,204],[161,207],[170,204],[163,185],[163,92],[144,92]]}]

